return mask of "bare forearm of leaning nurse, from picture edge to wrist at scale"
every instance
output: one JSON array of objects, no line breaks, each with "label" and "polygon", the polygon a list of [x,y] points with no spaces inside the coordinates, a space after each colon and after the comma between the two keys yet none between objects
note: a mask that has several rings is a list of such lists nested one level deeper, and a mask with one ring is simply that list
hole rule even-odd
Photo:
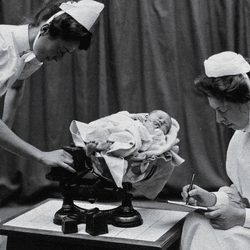
[{"label": "bare forearm of leaning nurse, from picture edge to wrist at scale", "polygon": [[29,160],[41,162],[42,151],[28,144],[0,120],[0,147]]}]

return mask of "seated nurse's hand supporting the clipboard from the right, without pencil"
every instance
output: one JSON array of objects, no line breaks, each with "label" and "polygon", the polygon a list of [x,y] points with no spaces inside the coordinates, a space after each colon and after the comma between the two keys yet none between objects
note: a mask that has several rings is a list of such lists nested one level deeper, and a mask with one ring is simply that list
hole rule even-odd
[{"label": "seated nurse's hand supporting the clipboard from the right, without pencil", "polygon": [[243,226],[246,212],[244,208],[237,208],[229,205],[218,205],[208,207],[210,212],[204,215],[210,219],[210,223],[215,229],[229,229],[234,226]]}]

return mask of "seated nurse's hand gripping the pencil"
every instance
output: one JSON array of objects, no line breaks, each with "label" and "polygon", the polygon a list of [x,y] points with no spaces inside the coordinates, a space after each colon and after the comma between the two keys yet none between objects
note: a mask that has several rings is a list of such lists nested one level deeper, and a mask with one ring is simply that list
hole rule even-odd
[{"label": "seated nurse's hand gripping the pencil", "polygon": [[189,192],[188,189],[189,185],[184,186],[181,193],[183,200],[188,200],[188,204],[209,207],[216,203],[215,194],[210,193],[197,185],[193,185],[193,189]]}]

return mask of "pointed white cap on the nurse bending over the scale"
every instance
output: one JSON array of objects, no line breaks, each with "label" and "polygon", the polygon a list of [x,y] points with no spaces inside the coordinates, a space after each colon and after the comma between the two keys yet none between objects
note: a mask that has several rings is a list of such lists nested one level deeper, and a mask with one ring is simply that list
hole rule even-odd
[{"label": "pointed white cap on the nurse bending over the scale", "polygon": [[90,30],[93,26],[103,8],[104,4],[93,0],[82,0],[79,2],[68,1],[60,5],[62,11],[72,16],[87,30]]}]

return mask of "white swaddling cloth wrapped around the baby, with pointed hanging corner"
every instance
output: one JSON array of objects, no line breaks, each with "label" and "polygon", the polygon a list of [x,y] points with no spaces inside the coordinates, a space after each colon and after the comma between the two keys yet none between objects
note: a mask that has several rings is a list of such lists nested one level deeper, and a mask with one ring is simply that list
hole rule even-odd
[{"label": "white swaddling cloth wrapped around the baby, with pointed hanging corner", "polygon": [[[184,162],[177,155],[178,150],[174,150],[178,130],[178,122],[172,119],[172,127],[166,136],[159,130],[151,135],[141,122],[129,118],[123,112],[88,124],[74,120],[70,125],[70,132],[76,146],[86,148],[85,143],[90,141],[114,142],[101,156],[105,159],[116,185],[121,188],[124,178],[132,183],[144,179],[149,165],[147,159],[152,156],[171,151],[176,165]],[[128,162],[124,159],[127,157],[145,160],[141,165],[140,174],[134,174],[131,169],[128,169]]]}]

